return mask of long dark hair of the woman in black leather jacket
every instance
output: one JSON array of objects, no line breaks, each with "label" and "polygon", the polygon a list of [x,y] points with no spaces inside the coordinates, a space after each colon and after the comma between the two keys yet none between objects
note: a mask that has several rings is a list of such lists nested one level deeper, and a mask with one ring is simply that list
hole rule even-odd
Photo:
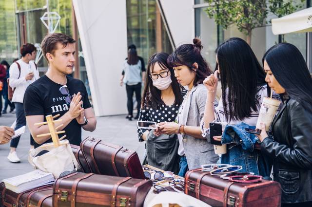
[{"label": "long dark hair of the woman in black leather jacket", "polygon": [[312,77],[298,48],[290,43],[279,43],[264,54],[262,62],[264,60],[291,98],[303,106],[312,105]]}]

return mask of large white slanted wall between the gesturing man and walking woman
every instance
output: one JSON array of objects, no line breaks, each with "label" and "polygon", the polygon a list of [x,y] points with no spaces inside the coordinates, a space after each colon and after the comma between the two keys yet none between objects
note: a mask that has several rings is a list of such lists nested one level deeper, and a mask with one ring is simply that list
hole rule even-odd
[{"label": "large white slanted wall between the gesturing man and walking woman", "polygon": [[126,113],[126,0],[73,0],[96,116]]}]

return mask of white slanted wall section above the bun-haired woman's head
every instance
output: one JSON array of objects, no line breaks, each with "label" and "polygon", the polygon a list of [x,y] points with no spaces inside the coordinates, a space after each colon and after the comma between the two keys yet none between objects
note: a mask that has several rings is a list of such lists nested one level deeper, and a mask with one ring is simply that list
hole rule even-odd
[{"label": "white slanted wall section above the bun-haired woman's head", "polygon": [[160,0],[176,46],[193,43],[194,0]]}]

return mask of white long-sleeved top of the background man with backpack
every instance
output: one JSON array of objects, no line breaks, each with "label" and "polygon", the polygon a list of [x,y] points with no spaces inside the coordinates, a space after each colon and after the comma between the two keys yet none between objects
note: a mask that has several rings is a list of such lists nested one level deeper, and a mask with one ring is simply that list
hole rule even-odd
[{"label": "white long-sleeved top of the background man with backpack", "polygon": [[[23,103],[26,88],[39,78],[39,71],[36,69],[36,65],[33,61],[29,61],[29,63],[26,63],[22,59],[19,59],[17,62],[20,64],[20,71],[18,65],[16,63],[12,63],[12,65],[10,66],[9,84],[12,88],[15,88],[12,102]],[[26,80],[25,76],[31,72],[34,73],[33,79]]]}]

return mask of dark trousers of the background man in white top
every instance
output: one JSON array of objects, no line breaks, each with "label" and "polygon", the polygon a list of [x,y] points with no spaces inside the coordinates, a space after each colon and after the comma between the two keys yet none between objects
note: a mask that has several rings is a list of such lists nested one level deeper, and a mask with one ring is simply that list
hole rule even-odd
[{"label": "dark trousers of the background man in white top", "polygon": [[[20,129],[22,126],[26,126],[26,117],[24,113],[24,105],[22,103],[15,102],[16,108],[16,127],[14,130]],[[17,148],[20,142],[20,136],[11,140],[10,147]],[[34,145],[34,139],[30,135],[30,145]]]}]

